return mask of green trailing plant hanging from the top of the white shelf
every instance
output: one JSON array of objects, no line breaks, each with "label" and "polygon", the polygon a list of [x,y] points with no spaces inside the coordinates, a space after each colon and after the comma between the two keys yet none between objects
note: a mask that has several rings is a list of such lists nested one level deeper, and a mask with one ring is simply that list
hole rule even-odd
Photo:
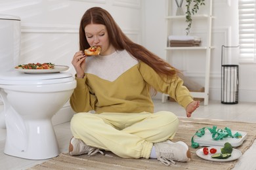
[{"label": "green trailing plant hanging from the top of the white shelf", "polygon": [[196,14],[199,10],[199,7],[205,5],[205,0],[186,0],[186,22],[188,26],[186,27],[186,35],[190,33],[190,28],[192,25],[192,15]]}]

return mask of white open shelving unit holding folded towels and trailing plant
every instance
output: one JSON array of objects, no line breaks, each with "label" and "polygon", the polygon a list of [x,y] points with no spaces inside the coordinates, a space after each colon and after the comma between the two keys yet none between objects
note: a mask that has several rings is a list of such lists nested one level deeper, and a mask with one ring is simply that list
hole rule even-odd
[{"label": "white open shelving unit holding folded towels and trailing plant", "polygon": [[[184,1],[186,3],[186,1]],[[184,22],[186,24],[186,16],[176,16],[175,13],[176,11],[174,10],[176,6],[175,0],[166,0],[166,37],[169,35],[173,35],[173,27],[179,25],[175,25],[173,23],[179,21],[179,22]],[[203,6],[200,7],[200,9]],[[212,9],[213,9],[213,0],[205,0],[205,7],[207,10],[205,10],[203,13],[204,14],[195,14],[192,16],[192,27],[193,25],[196,24],[198,20],[204,22],[207,24],[205,27],[205,39],[204,44],[202,46],[188,46],[188,47],[170,47],[168,46],[169,43],[167,43],[167,46],[165,46],[165,51],[166,51],[166,60],[169,61],[169,58],[175,58],[177,56],[172,55],[172,52],[175,51],[191,51],[193,50],[202,50],[203,51],[203,60],[205,61],[205,80],[204,80],[204,92],[190,92],[193,97],[197,98],[203,98],[203,105],[208,105],[209,101],[209,75],[210,75],[210,63],[211,63],[211,50],[214,48],[211,45],[211,27],[212,27],[212,20],[214,16],[212,16]],[[184,28],[186,29],[186,27]],[[196,33],[195,33],[196,34]],[[183,35],[186,35],[185,30],[183,31]],[[203,61],[202,60],[202,61]],[[200,64],[203,64],[200,63]],[[171,65],[173,65],[171,63]],[[175,65],[173,65],[175,67]],[[167,99],[166,94],[162,95],[162,102],[164,103]]]}]

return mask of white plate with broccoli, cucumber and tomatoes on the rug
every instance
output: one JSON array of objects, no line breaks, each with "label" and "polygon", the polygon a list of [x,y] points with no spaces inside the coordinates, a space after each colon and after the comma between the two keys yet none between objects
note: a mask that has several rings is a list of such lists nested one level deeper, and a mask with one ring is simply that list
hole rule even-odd
[{"label": "white plate with broccoli, cucumber and tomatoes on the rug", "polygon": [[242,156],[242,152],[240,150],[233,148],[233,151],[229,158],[226,158],[226,159],[211,158],[211,156],[213,156],[213,154],[210,153],[210,149],[216,148],[217,152],[215,154],[217,154],[217,153],[221,153],[221,148],[223,148],[223,146],[211,146],[211,147],[207,147],[207,148],[209,150],[209,154],[207,154],[207,155],[203,154],[203,148],[200,148],[200,149],[196,150],[196,155],[199,158],[202,158],[203,160],[208,160],[208,161],[234,161],[234,160],[237,160],[238,158],[240,158],[240,156]]}]

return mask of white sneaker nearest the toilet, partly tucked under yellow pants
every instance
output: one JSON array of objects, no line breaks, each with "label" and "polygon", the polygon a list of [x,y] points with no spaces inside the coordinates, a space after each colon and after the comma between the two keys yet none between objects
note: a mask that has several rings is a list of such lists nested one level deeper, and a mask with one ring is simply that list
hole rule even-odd
[{"label": "white sneaker nearest the toilet, partly tucked under yellow pants", "polygon": [[97,152],[100,152],[100,154],[104,155],[104,153],[100,151],[99,148],[88,146],[83,141],[75,139],[74,137],[72,137],[72,139],[70,140],[68,152],[70,155],[88,154],[89,156],[91,156],[93,154],[96,154]]}]

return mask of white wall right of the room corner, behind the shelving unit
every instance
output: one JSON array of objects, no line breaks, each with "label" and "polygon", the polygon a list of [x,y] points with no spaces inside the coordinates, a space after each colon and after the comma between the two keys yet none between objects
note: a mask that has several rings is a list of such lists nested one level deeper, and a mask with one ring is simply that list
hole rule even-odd
[{"label": "white wall right of the room corner, behind the shelving unit", "polygon": [[[165,0],[142,0],[144,3],[144,33],[143,44],[152,52],[165,58]],[[173,0],[174,1],[174,0]],[[205,0],[207,2],[207,0]],[[184,1],[185,3],[185,1]],[[183,6],[184,6],[183,3]],[[184,8],[184,7],[183,7]],[[213,0],[213,35],[212,44],[215,49],[211,52],[211,71],[209,98],[221,101],[221,46],[237,46],[238,42],[238,0]],[[201,10],[205,10],[204,7]],[[194,24],[194,23],[192,23]],[[184,30],[183,25],[178,26]],[[200,29],[203,25],[194,25]],[[192,25],[193,33],[193,25]],[[183,31],[185,35],[185,31]],[[228,64],[238,64],[239,50],[232,50],[227,55]],[[196,52],[191,52],[191,56]],[[203,58],[181,61],[174,65],[178,69],[185,69],[184,75],[191,80],[204,82]],[[198,64],[198,63],[202,63]],[[256,102],[256,65],[253,63],[239,63],[239,101]],[[160,97],[160,95],[158,95]]]}]

